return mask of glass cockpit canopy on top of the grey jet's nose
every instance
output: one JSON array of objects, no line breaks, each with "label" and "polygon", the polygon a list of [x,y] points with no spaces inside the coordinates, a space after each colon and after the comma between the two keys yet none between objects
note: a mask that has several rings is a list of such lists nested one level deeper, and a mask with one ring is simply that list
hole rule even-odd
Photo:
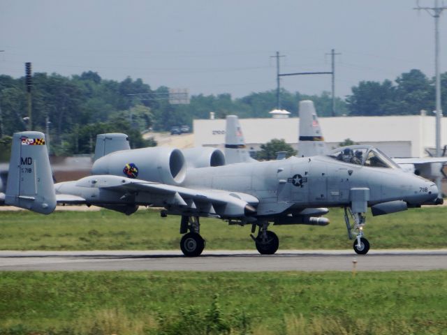
[{"label": "glass cockpit canopy on top of the grey jet's nose", "polygon": [[382,151],[369,146],[352,145],[349,147],[342,147],[331,151],[328,156],[337,161],[369,166],[372,168],[400,169],[399,165],[394,163],[391,158],[386,156],[386,154],[383,154]]}]

